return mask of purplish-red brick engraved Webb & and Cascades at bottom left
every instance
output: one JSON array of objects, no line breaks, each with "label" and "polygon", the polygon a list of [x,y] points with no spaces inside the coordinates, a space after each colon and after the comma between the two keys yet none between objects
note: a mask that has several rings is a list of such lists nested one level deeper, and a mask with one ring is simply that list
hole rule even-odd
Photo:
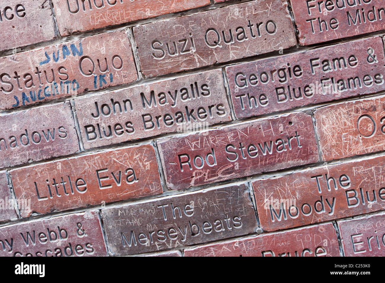
[{"label": "purplish-red brick engraved Webb & and Cascades at bottom left", "polygon": [[1,256],[106,256],[96,211],[0,228]]}]

